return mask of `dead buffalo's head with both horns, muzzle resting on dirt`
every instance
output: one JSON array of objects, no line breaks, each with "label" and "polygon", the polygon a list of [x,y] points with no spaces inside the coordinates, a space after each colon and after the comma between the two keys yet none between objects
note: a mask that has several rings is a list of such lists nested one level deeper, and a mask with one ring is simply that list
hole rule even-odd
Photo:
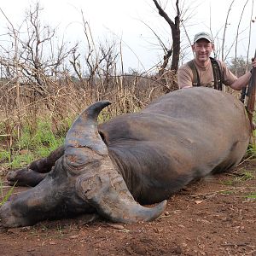
[{"label": "dead buffalo's head with both horns, muzzle resting on dirt", "polygon": [[26,226],[47,218],[98,212],[114,222],[149,221],[163,212],[166,201],[142,207],[127,189],[118,167],[97,130],[97,117],[108,101],[84,110],[67,132],[65,154],[35,188],[20,193],[0,209],[2,224]]}]

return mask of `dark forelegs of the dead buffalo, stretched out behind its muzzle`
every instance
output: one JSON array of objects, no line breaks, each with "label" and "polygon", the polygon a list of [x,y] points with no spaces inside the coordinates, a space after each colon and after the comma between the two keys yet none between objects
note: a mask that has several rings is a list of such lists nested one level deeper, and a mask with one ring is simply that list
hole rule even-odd
[{"label": "dark forelegs of the dead buffalo, stretched out behind its muzzle", "polygon": [[9,185],[36,186],[44,179],[51,168],[55,166],[56,160],[63,154],[64,146],[61,146],[52,151],[49,156],[32,161],[32,163],[25,168],[10,171],[7,175]]}]

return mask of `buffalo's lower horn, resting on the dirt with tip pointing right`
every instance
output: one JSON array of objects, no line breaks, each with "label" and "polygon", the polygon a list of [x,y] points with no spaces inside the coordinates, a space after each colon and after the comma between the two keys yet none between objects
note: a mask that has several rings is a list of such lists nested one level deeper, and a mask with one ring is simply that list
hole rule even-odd
[{"label": "buffalo's lower horn, resting on the dirt with tip pointing right", "polygon": [[153,208],[139,205],[109,158],[97,171],[91,170],[79,177],[76,192],[99,214],[113,222],[150,221],[159,217],[166,207],[166,201]]}]

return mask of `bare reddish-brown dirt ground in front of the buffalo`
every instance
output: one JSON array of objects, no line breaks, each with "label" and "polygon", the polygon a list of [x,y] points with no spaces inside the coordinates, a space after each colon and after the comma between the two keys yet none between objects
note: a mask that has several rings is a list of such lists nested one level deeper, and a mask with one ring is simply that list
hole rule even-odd
[{"label": "bare reddish-brown dirt ground in front of the buffalo", "polygon": [[0,255],[255,256],[255,196],[256,160],[247,160],[173,195],[165,214],[151,223],[113,224],[91,215],[0,226]]}]

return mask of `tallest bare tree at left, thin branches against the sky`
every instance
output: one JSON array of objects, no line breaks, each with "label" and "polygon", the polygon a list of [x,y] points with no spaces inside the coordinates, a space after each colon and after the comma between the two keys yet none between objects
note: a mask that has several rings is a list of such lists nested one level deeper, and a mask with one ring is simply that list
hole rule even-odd
[{"label": "tallest bare tree at left, thin branches against the sky", "polygon": [[57,73],[60,72],[59,67],[76,46],[66,49],[63,40],[61,44],[55,45],[55,29],[42,23],[40,20],[41,10],[39,4],[36,3],[33,9],[27,11],[26,38],[20,39],[22,48],[20,61],[24,64],[24,75],[28,79],[32,79],[32,84],[36,82],[38,93],[45,96],[45,78],[57,76]]}]

